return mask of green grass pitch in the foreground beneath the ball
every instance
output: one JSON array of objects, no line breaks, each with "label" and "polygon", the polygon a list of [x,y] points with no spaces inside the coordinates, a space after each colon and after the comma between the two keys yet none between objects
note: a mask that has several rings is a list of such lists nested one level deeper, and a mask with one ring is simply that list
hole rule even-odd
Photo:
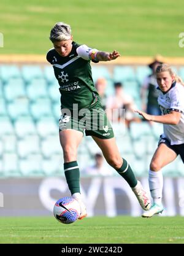
[{"label": "green grass pitch in the foreground beneath the ball", "polygon": [[1,217],[4,244],[183,244],[183,217],[88,217],[64,225],[54,217]]}]

